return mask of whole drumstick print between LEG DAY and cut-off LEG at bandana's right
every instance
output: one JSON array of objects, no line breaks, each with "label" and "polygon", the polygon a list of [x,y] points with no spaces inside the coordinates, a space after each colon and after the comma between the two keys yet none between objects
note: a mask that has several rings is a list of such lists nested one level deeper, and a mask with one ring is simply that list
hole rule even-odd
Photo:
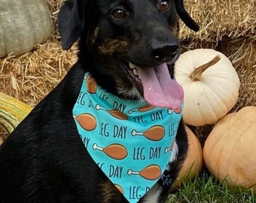
[{"label": "whole drumstick print between LEG DAY and cut-off LEG at bandana's right", "polygon": [[163,126],[152,126],[150,129],[145,132],[137,132],[135,129],[132,131],[132,135],[143,135],[145,138],[150,139],[151,141],[160,141],[165,135],[165,130]]}]

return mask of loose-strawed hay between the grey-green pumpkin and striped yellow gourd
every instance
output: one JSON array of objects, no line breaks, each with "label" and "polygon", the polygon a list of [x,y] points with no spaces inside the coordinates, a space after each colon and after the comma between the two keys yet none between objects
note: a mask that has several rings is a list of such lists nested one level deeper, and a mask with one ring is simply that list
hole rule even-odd
[{"label": "loose-strawed hay between the grey-green pumpkin and striped yellow gourd", "polygon": [[75,63],[75,52],[75,47],[63,51],[59,41],[52,36],[30,53],[1,59],[1,91],[35,106]]}]

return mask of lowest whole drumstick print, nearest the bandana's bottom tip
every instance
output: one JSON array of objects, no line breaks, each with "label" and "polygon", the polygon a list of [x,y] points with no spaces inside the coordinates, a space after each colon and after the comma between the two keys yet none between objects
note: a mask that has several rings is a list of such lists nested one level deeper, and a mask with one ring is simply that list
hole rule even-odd
[{"label": "lowest whole drumstick print, nearest the bandana's bottom tip", "polygon": [[145,179],[156,180],[161,175],[161,168],[159,165],[148,165],[146,168],[143,168],[142,171],[133,171],[132,169],[129,169],[127,174],[139,174]]}]

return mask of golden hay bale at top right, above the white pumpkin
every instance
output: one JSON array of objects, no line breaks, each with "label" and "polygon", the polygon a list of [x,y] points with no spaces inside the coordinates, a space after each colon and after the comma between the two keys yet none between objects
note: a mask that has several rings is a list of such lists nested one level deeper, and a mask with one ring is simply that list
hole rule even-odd
[{"label": "golden hay bale at top right, above the white pumpkin", "polygon": [[256,39],[255,0],[185,0],[187,11],[200,25],[193,32],[181,23],[182,40],[196,38],[206,42],[228,38]]}]

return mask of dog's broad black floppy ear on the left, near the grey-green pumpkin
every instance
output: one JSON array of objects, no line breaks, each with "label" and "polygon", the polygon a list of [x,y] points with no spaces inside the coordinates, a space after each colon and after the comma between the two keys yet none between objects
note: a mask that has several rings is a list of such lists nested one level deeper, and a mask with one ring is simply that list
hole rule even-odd
[{"label": "dog's broad black floppy ear on the left, near the grey-green pumpkin", "polygon": [[60,8],[58,26],[63,50],[69,50],[80,37],[85,23],[85,5],[89,1],[68,0]]}]

